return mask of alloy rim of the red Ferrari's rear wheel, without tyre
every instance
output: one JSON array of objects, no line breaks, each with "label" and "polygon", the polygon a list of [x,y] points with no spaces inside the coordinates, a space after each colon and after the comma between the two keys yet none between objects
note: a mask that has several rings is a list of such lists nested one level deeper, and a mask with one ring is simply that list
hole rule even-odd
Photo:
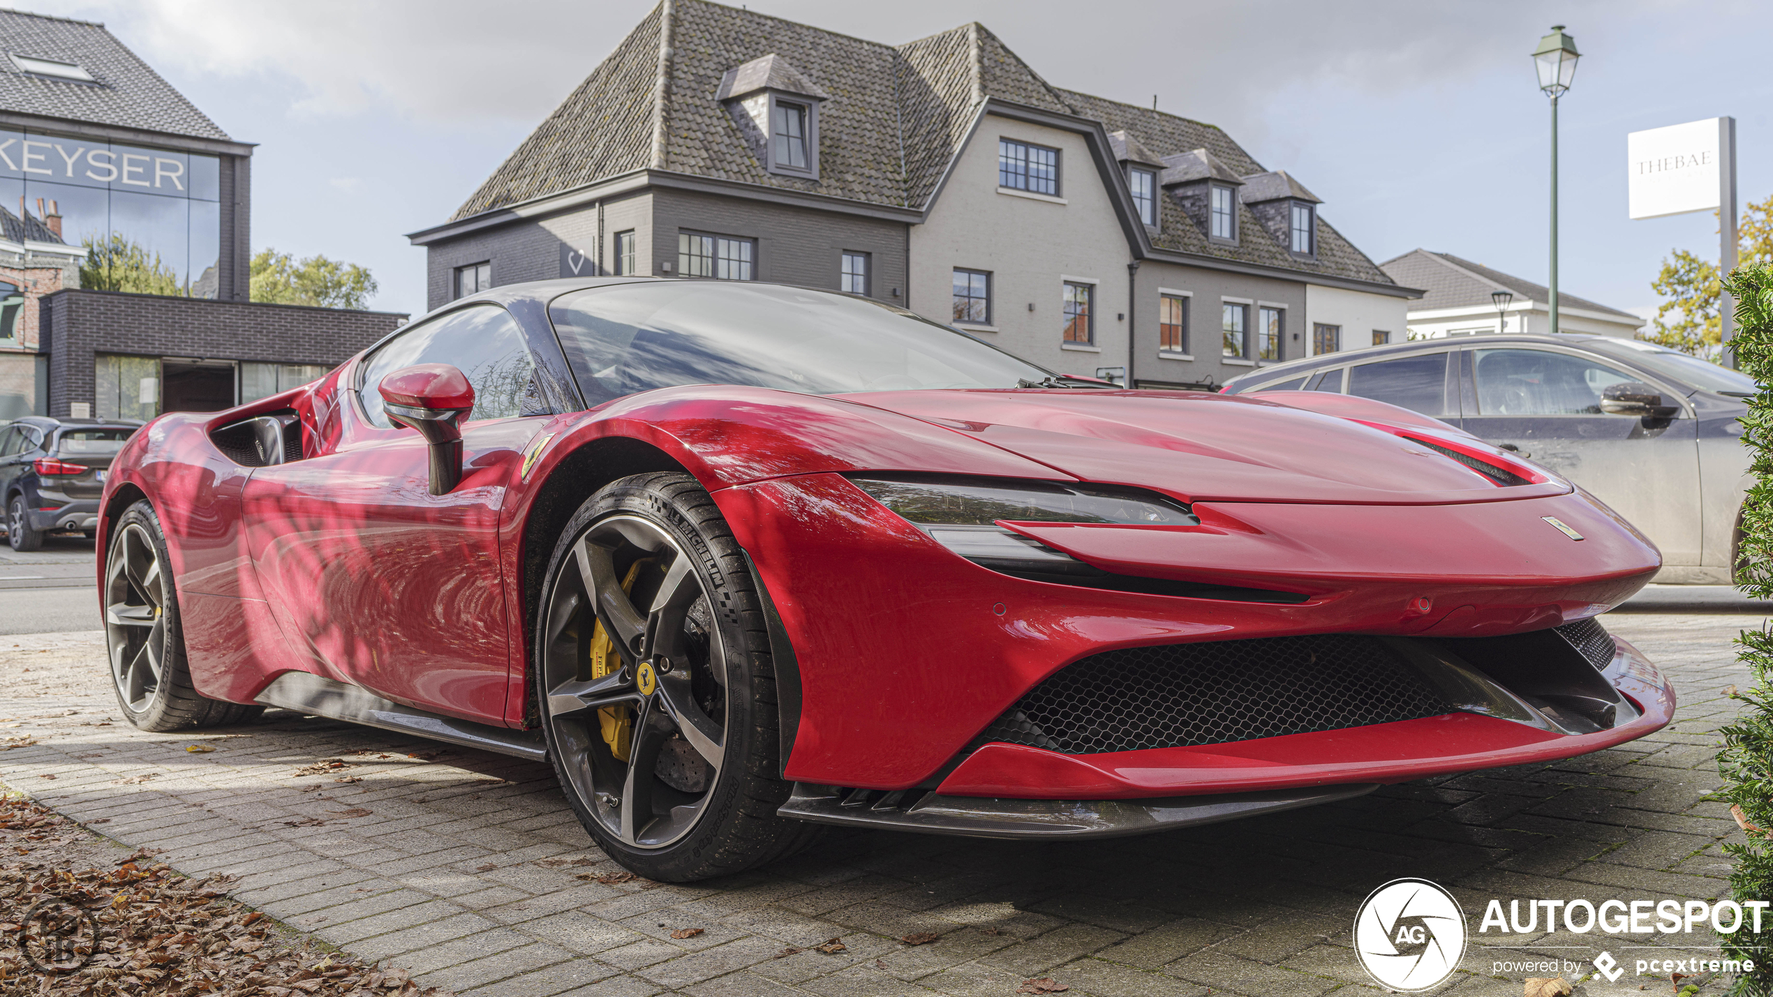
[{"label": "alloy rim of the red Ferrari's rear wheel, without tyre", "polygon": [[137,522],[122,528],[105,565],[105,639],[124,705],[147,710],[165,673],[167,572]]}]

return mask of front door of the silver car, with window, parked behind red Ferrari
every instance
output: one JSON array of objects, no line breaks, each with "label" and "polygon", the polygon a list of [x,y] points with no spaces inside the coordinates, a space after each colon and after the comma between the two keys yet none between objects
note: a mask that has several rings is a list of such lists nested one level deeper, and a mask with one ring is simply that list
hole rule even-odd
[{"label": "front door of the silver car, with window, parked behind red Ferrari", "polygon": [[1683,393],[1658,384],[1675,418],[1601,411],[1608,384],[1647,381],[1567,349],[1470,347],[1463,354],[1466,432],[1587,489],[1661,549],[1667,565],[1700,563],[1699,444]]}]

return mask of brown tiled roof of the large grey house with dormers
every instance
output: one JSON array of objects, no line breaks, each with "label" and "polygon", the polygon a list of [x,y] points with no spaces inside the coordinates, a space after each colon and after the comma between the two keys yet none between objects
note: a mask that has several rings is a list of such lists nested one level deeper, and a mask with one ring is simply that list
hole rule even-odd
[{"label": "brown tiled roof of the large grey house with dormers", "polygon": [[[819,104],[817,181],[766,172],[716,99],[734,69],[766,57],[828,94]],[[920,209],[986,99],[1094,119],[1167,165],[1206,149],[1236,177],[1264,174],[1218,128],[1048,85],[977,23],[888,46],[709,0],[663,0],[452,221],[642,168]],[[1317,259],[1301,260],[1248,207],[1238,209],[1241,244],[1223,246],[1209,244],[1172,198],[1161,200],[1158,248],[1392,283],[1323,218]]]}]

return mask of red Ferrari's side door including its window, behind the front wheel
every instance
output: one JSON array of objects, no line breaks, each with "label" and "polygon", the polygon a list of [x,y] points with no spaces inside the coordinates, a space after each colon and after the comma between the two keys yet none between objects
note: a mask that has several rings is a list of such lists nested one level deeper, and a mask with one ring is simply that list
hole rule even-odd
[{"label": "red Ferrari's side door including its window, behind the front wheel", "polygon": [[[463,478],[429,494],[429,448],[388,421],[376,386],[415,363],[452,363],[475,407]],[[511,622],[498,515],[544,418],[534,359],[509,312],[473,305],[413,326],[365,356],[332,402],[326,453],[257,468],[243,512],[278,623],[314,671],[426,710],[504,723]],[[534,406],[530,406],[534,409]]]}]

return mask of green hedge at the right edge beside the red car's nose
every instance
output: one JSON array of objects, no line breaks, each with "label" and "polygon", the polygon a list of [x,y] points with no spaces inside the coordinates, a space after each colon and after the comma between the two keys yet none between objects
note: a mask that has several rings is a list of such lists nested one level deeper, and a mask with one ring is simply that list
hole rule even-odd
[{"label": "green hedge at the right edge beside the red car's nose", "polygon": [[[1752,448],[1755,483],[1743,503],[1743,540],[1736,583],[1755,599],[1773,599],[1773,269],[1741,267],[1725,282],[1736,296],[1736,361],[1761,383],[1743,416],[1743,443]],[[1736,641],[1753,676],[1738,692],[1750,710],[1723,728],[1718,799],[1734,804],[1739,822],[1773,829],[1773,632],[1745,630]],[[1750,831],[1746,845],[1725,845],[1736,859],[1730,893],[1738,901],[1773,900],[1773,839]],[[1723,939],[1725,958],[1753,960],[1755,970],[1736,981],[1736,993],[1773,993],[1773,917],[1755,933],[1748,923]]]}]

